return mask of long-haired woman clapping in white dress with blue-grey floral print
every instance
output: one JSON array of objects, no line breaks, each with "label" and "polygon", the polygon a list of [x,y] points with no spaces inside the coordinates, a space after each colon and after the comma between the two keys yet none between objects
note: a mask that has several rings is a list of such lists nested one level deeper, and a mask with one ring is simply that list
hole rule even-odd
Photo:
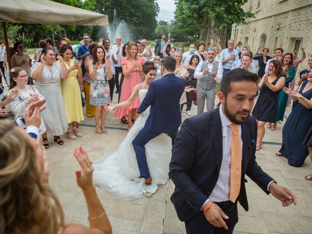
[{"label": "long-haired woman clapping in white dress with blue-grey floral print", "polygon": [[[107,133],[105,128],[106,110],[104,106],[111,102],[111,93],[108,80],[113,78],[111,65],[106,60],[105,50],[98,45],[93,49],[92,62],[89,62],[90,83],[90,104],[96,106],[94,118],[96,120],[96,132],[98,134]],[[99,116],[102,111],[101,125]]]}]

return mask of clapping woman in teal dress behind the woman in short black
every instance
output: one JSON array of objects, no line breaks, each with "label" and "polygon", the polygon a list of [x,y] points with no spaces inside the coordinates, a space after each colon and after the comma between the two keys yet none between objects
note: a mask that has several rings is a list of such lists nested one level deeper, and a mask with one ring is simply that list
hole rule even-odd
[{"label": "clapping woman in teal dress behind the woman in short black", "polygon": [[[285,77],[285,85],[284,87],[289,88],[289,83],[293,80],[295,76],[295,67],[292,64],[292,53],[286,53],[282,60],[282,65],[284,69],[284,73],[282,74],[282,77]],[[278,107],[277,107],[277,115],[276,115],[276,121],[273,123],[273,126],[271,127],[271,124],[268,125],[268,128],[271,128],[271,130],[275,130],[277,121],[283,121],[284,114],[286,110],[286,104],[287,104],[288,95],[285,92],[280,92],[278,94]]]}]

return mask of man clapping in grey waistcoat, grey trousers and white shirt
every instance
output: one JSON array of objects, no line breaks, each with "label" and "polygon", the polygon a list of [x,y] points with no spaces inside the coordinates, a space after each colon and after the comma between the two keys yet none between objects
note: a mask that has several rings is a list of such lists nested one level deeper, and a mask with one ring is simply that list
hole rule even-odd
[{"label": "man clapping in grey waistcoat, grey trousers and white shirt", "polygon": [[220,83],[223,75],[221,62],[215,61],[215,48],[208,48],[205,61],[200,61],[194,77],[199,79],[196,86],[197,115],[204,112],[205,100],[207,111],[215,108],[215,84]]}]

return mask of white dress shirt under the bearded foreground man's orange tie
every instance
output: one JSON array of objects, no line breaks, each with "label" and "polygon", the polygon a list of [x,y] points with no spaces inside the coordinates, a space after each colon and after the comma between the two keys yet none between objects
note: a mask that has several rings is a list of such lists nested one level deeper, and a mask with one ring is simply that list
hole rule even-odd
[{"label": "white dress shirt under the bearded foreground man's orange tie", "polygon": [[[211,200],[213,202],[223,202],[230,200],[230,178],[231,178],[231,141],[232,141],[232,129],[230,125],[233,124],[222,112],[222,104],[219,107],[219,113],[221,118],[222,125],[222,162],[219,172],[218,180],[216,181],[215,188],[211,192],[209,198],[204,202],[201,210],[204,208],[205,204]],[[242,140],[242,128],[241,125],[238,126],[238,132],[240,136],[240,144],[241,149],[243,149],[243,140]],[[242,152],[243,156],[243,152]],[[268,184],[267,190],[269,191],[269,187],[271,183],[275,182],[275,180],[271,181]]]}]

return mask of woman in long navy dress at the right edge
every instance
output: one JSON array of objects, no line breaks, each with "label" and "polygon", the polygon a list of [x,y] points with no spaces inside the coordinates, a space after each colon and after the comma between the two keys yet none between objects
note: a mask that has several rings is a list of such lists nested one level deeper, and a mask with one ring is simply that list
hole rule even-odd
[{"label": "woman in long navy dress at the right edge", "polygon": [[297,103],[284,125],[282,148],[276,152],[277,156],[286,156],[288,163],[294,167],[301,167],[309,155],[308,147],[303,142],[312,126],[312,72],[298,90],[283,88]]}]

